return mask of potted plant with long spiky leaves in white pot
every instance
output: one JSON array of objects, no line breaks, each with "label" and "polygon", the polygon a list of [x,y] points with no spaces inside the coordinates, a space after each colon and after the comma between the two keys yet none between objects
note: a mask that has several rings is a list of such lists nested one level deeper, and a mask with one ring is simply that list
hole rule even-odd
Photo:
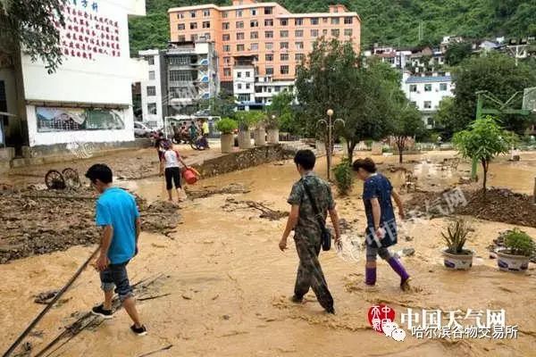
[{"label": "potted plant with long spiky leaves in white pot", "polygon": [[470,229],[464,219],[457,219],[448,226],[447,233],[441,232],[447,244],[447,249],[442,253],[443,262],[448,269],[468,270],[473,266],[473,252],[464,249]]}]

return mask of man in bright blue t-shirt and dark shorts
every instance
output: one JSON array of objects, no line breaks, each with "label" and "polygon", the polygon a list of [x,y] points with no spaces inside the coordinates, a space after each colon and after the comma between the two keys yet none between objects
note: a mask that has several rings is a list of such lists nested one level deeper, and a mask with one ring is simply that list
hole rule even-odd
[{"label": "man in bright blue t-shirt and dark shorts", "polygon": [[127,264],[138,253],[140,220],[136,200],[125,190],[112,186],[112,170],[104,164],[91,166],[86,177],[101,194],[96,201],[96,225],[103,228],[96,270],[100,272],[105,303],[94,307],[92,312],[112,319],[115,287],[123,308],[134,321],[130,329],[139,336],[147,335],[147,328],[139,320],[127,274]]}]

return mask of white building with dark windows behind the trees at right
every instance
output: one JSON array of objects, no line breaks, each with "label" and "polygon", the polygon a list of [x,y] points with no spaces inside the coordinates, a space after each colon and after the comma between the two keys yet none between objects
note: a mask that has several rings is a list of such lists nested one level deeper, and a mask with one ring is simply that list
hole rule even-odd
[{"label": "white building with dark windows behind the trees at right", "polygon": [[440,102],[454,96],[450,73],[433,73],[431,76],[410,75],[405,73],[402,79],[402,90],[407,99],[415,104],[423,114],[424,124],[428,129],[434,127],[433,115],[438,111]]}]

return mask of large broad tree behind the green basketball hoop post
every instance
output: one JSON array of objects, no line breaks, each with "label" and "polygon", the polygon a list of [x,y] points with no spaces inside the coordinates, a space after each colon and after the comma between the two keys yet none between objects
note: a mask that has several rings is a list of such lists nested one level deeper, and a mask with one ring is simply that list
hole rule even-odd
[{"label": "large broad tree behind the green basketball hoop post", "polygon": [[[477,91],[488,90],[506,102],[515,92],[535,87],[536,72],[523,62],[515,65],[515,59],[505,54],[488,54],[462,62],[454,71],[454,83],[456,97],[452,113],[445,123],[445,129],[451,133],[465,129],[475,118]],[[521,98],[512,105],[521,108]],[[498,120],[505,129],[515,132],[522,132],[528,126],[526,117],[519,115],[501,115]]]}]

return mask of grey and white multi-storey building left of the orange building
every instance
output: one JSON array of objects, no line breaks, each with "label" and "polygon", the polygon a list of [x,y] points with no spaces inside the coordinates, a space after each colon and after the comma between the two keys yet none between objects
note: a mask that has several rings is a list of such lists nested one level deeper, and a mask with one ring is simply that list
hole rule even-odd
[{"label": "grey and white multi-storey building left of the orange building", "polygon": [[171,43],[166,50],[140,51],[149,63],[148,80],[142,82],[143,121],[162,127],[167,116],[197,112],[197,104],[220,91],[218,55],[214,44],[203,39]]}]

